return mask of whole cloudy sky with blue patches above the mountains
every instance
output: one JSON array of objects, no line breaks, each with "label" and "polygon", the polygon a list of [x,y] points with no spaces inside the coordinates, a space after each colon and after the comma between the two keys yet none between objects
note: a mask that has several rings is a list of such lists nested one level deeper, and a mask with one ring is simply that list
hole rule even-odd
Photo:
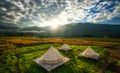
[{"label": "whole cloudy sky with blue patches above the mountains", "polygon": [[69,23],[120,25],[120,1],[0,0],[0,25],[44,27]]}]

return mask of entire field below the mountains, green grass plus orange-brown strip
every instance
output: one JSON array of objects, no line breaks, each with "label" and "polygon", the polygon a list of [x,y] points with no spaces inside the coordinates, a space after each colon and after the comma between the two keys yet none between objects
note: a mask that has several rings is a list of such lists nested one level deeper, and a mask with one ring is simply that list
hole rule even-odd
[{"label": "entire field below the mountains, green grass plus orange-brown strip", "polygon": [[[109,50],[120,50],[120,39],[112,38],[38,38],[38,37],[0,37],[0,73],[47,73],[33,59],[41,57],[49,47],[60,48],[63,43],[73,49],[60,53],[70,61],[50,73],[119,73],[120,58]],[[98,61],[79,57],[78,54],[91,46],[100,54]]]}]

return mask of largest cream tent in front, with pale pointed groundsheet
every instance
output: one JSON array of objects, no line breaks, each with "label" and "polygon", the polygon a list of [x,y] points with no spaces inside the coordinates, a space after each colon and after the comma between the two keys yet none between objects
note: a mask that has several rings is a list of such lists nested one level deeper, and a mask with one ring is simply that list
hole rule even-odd
[{"label": "largest cream tent in front, with pale pointed groundsheet", "polygon": [[68,58],[63,57],[54,47],[50,47],[40,58],[34,59],[37,64],[45,68],[47,71],[51,71],[68,60]]}]

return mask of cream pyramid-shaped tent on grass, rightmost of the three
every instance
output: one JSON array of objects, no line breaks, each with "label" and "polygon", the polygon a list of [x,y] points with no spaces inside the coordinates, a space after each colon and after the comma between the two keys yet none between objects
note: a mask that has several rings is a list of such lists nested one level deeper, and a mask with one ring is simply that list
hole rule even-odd
[{"label": "cream pyramid-shaped tent on grass, rightmost of the three", "polygon": [[98,59],[99,54],[96,53],[91,47],[88,47],[84,52],[80,54],[80,56],[91,59]]}]

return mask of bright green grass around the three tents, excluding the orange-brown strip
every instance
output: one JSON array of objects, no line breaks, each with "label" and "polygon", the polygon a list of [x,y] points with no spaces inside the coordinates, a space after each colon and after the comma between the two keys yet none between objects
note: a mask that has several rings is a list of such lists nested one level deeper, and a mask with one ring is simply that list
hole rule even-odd
[{"label": "bright green grass around the three tents, excluding the orange-brown strip", "polygon": [[[3,51],[6,56],[1,61],[0,73],[47,73],[42,67],[38,66],[33,59],[43,55],[50,46],[60,48],[61,44],[44,44],[38,46],[28,46]],[[78,54],[84,51],[88,46],[70,45],[73,49],[68,53],[60,51],[60,53],[71,60],[64,65],[51,71],[52,73],[96,73],[102,67],[102,64],[108,59],[108,50],[99,46],[91,46],[100,54],[99,61],[79,57]]]}]

